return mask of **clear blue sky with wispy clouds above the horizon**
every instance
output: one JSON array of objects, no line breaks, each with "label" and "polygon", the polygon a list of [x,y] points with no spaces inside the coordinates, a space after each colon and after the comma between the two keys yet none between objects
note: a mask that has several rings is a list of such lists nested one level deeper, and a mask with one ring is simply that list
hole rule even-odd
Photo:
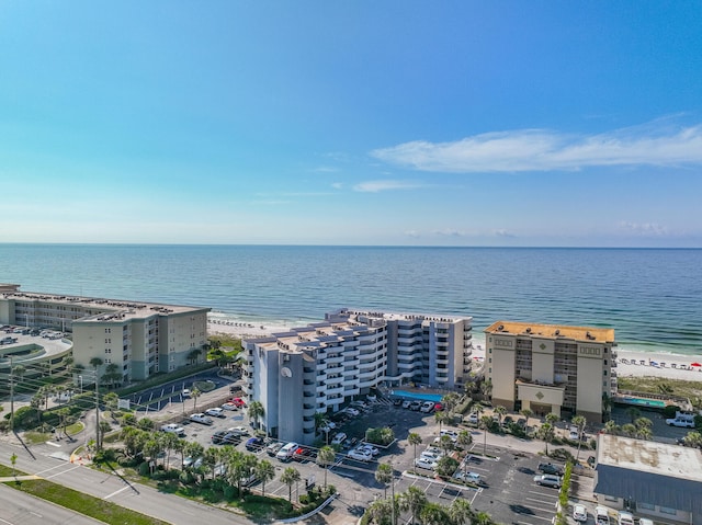
[{"label": "clear blue sky with wispy clouds above the horizon", "polygon": [[702,247],[702,3],[4,1],[0,242]]}]

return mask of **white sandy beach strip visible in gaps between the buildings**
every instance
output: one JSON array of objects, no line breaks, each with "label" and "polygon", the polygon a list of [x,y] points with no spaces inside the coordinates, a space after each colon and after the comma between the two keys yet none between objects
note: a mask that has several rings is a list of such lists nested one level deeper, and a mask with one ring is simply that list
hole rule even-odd
[{"label": "white sandy beach strip visible in gaps between the buildings", "polygon": [[[226,333],[237,335],[242,339],[260,338],[271,333],[286,332],[293,326],[252,324],[247,322],[220,321],[218,319],[208,320],[210,333]],[[665,377],[668,379],[686,379],[702,381],[702,367],[690,366],[692,363],[702,364],[702,355],[679,355],[679,354],[657,354],[655,352],[631,352],[627,350],[616,350],[616,375],[619,377]],[[485,350],[482,341],[476,339],[474,343],[473,356],[478,359],[485,358]],[[690,369],[691,368],[691,369]]]}]

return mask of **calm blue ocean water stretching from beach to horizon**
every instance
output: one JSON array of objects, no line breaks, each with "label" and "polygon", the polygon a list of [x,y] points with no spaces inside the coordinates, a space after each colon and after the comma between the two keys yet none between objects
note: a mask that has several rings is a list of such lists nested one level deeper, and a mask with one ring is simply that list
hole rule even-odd
[{"label": "calm blue ocean water stretching from beach to horizon", "polygon": [[611,327],[622,349],[702,354],[702,250],[0,244],[0,282],[261,324],[353,307],[473,316],[477,335],[499,319]]}]

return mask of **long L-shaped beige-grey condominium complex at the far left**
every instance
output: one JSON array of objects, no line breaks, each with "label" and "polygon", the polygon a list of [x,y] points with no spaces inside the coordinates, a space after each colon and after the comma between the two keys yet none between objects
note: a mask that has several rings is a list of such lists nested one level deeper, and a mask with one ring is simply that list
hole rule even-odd
[{"label": "long L-shaped beige-grey condominium complex at the far left", "polygon": [[[0,323],[72,333],[73,362],[102,372],[118,366],[123,383],[193,363],[207,342],[210,308],[20,292],[0,285]],[[194,352],[200,351],[200,352]],[[200,357],[200,361],[202,361]],[[89,379],[89,375],[84,376]]]}]

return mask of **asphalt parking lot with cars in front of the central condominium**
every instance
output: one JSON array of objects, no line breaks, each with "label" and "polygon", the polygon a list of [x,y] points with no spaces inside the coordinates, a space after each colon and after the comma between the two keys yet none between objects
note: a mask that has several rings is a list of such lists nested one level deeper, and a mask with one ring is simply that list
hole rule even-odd
[{"label": "asphalt parking lot with cars in front of the central condominium", "polygon": [[[208,400],[199,400],[197,410],[204,410],[212,406],[215,400],[228,397],[228,388],[224,388],[223,383],[218,391],[210,392]],[[188,412],[191,412],[192,400],[185,400]],[[180,407],[173,404],[174,410]],[[224,418],[212,418],[212,425],[203,425],[189,422],[185,418],[180,418],[179,423],[184,423],[185,438],[196,441],[203,446],[220,446],[212,444],[212,435],[217,431],[231,427],[244,426],[253,435],[253,430],[246,414],[246,409],[237,411],[225,411]],[[363,440],[369,427],[390,426],[395,433],[396,442],[386,449],[381,448],[380,454],[371,461],[359,461],[349,458],[346,454],[349,450],[349,442]],[[443,425],[442,429],[455,427]],[[439,426],[435,423],[433,413],[421,413],[418,411],[395,407],[387,401],[371,404],[366,410],[362,410],[358,416],[351,416],[346,421],[338,421],[333,430],[329,432],[328,440],[331,441],[337,432],[344,432],[348,441],[343,449],[337,455],[336,463],[329,467],[327,472],[327,483],[333,484],[340,498],[326,513],[333,512],[344,515],[360,516],[367,505],[384,494],[384,487],[375,480],[375,470],[378,463],[388,463],[395,472],[394,490],[398,494],[409,487],[422,490],[429,501],[434,501],[443,505],[450,505],[457,498],[468,501],[477,512],[485,511],[497,523],[511,523],[520,525],[544,525],[551,522],[555,515],[555,504],[558,499],[558,490],[541,487],[534,482],[537,473],[537,465],[541,456],[534,452],[516,452],[507,447],[499,447],[487,444],[484,450],[483,431],[471,429],[473,445],[471,449],[475,453],[471,455],[471,460],[462,465],[462,469],[474,472],[480,478],[480,487],[462,486],[457,482],[444,482],[434,479],[433,472],[426,469],[417,469],[415,473],[414,459],[415,447],[408,444],[410,432],[422,437],[422,444],[417,446],[417,455],[439,435]],[[245,450],[248,436],[242,436],[235,446]],[[495,441],[495,436],[488,434],[489,441]],[[326,440],[322,434],[320,440]],[[533,447],[532,447],[533,448]],[[261,459],[270,460],[275,467],[275,479],[265,484],[267,494],[287,498],[288,487],[280,481],[280,475],[287,467],[296,468],[301,473],[301,481],[293,486],[292,493],[295,500],[305,493],[306,486],[324,483],[325,471],[316,464],[316,459],[304,458],[303,460],[281,461],[267,454],[265,449],[253,452]],[[494,456],[494,457],[488,457]],[[171,457],[173,467],[180,466],[180,457]],[[260,486],[253,484],[252,490],[260,490]],[[390,492],[388,488],[388,494]],[[403,516],[405,520],[409,515]]]}]

